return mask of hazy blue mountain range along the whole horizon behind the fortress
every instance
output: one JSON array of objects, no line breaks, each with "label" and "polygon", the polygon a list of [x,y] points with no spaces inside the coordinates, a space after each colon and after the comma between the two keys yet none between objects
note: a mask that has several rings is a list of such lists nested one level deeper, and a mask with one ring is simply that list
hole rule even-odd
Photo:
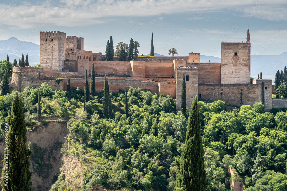
[{"label": "hazy blue mountain range along the whole horizon behind the fortress", "polygon": [[[19,61],[19,58],[28,54],[30,65],[40,62],[40,45],[32,42],[20,41],[15,37],[8,40],[0,40],[0,59],[6,59],[9,54],[9,60],[14,61],[14,58]],[[150,56],[150,54],[144,55]],[[164,56],[154,53],[154,56]],[[220,58],[215,56],[200,55],[200,62],[220,62]],[[257,78],[257,75],[262,72],[264,79],[275,79],[277,70],[281,72],[287,66],[287,52],[280,55],[252,55],[251,56],[251,77]]]}]

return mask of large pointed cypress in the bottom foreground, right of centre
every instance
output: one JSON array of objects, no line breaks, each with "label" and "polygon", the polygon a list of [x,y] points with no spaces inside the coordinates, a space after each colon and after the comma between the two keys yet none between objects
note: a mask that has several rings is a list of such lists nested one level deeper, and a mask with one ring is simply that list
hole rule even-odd
[{"label": "large pointed cypress in the bottom foreground, right of centre", "polygon": [[176,190],[207,190],[197,97],[193,98],[189,112],[185,144],[178,164]]}]

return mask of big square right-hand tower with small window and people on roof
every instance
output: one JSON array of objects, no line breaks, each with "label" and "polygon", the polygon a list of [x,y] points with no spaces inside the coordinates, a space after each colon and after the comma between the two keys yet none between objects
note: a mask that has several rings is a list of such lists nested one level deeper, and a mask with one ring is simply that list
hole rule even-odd
[{"label": "big square right-hand tower with small window and people on roof", "polygon": [[221,83],[250,84],[250,43],[221,43]]}]

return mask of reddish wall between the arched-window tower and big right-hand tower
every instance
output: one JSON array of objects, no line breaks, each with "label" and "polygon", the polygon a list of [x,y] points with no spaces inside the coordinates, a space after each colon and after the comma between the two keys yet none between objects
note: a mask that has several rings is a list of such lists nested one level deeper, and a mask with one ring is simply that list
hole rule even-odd
[{"label": "reddish wall between the arched-window tower and big right-hand tower", "polygon": [[221,63],[187,63],[186,66],[195,66],[198,71],[198,83],[220,84]]}]

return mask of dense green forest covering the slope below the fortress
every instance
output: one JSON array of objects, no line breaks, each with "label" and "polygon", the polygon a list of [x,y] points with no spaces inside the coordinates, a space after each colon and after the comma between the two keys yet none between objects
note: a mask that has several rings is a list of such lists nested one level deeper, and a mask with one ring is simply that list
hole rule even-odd
[{"label": "dense green forest covering the slope below the fortress", "polygon": [[[2,140],[14,94],[0,96]],[[110,117],[105,118],[103,92],[85,103],[86,110],[80,88],[53,91],[44,83],[38,89],[27,87],[20,95],[27,131],[44,128],[46,117],[70,119],[61,152],[63,157],[74,156],[81,162],[83,178],[75,172],[75,181],[69,182],[68,175],[59,174],[51,191],[92,190],[95,184],[109,190],[174,190],[188,111],[186,116],[177,112],[170,96],[132,87],[127,93],[121,90],[110,95]],[[199,101],[198,105],[208,190],[230,190],[234,177],[229,166],[237,170],[247,191],[287,189],[285,111],[264,112],[261,102],[232,111],[224,110],[224,101]],[[44,166],[38,168],[45,172]]]}]

